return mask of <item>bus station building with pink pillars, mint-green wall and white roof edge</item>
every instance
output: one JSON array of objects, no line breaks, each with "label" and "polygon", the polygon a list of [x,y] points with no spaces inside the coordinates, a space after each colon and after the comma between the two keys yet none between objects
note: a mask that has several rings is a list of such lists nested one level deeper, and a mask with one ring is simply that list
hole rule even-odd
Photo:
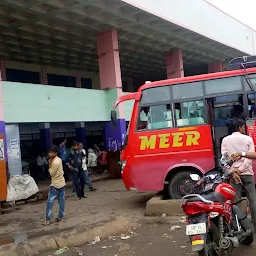
[{"label": "bus station building with pink pillars, mint-green wall and white roof edge", "polygon": [[113,127],[118,96],[148,80],[222,71],[255,55],[255,38],[205,0],[2,0],[2,160],[20,174],[26,147],[46,151],[61,138],[118,149],[133,106],[118,107]]}]

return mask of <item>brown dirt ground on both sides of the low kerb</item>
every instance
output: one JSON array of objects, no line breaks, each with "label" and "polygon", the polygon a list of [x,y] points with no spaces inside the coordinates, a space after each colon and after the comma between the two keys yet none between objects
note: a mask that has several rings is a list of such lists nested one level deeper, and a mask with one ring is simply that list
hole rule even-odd
[{"label": "brown dirt ground on both sides of the low kerb", "polygon": [[[42,226],[46,202],[23,205],[13,213],[1,215],[1,239],[10,237],[16,242],[35,238],[45,234],[56,234],[61,231],[91,228],[112,221],[117,216],[128,219],[135,229],[118,237],[100,240],[94,245],[81,248],[69,248],[61,256],[170,256],[196,255],[191,252],[190,243],[185,235],[184,218],[182,217],[145,217],[145,205],[153,194],[126,191],[121,180],[106,180],[95,183],[96,192],[88,192],[87,199],[78,201],[71,189],[66,191],[65,222]],[[55,216],[57,214],[55,205]],[[175,227],[176,226],[176,227]],[[1,243],[0,243],[1,244]],[[255,254],[256,244],[241,247],[232,253],[247,256]],[[41,254],[54,256],[55,251]]]}]

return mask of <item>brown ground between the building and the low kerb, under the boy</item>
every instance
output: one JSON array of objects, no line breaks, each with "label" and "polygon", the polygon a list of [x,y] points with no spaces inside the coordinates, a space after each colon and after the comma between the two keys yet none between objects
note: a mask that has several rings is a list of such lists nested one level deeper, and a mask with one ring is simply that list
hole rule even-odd
[{"label": "brown ground between the building and the low kerb, under the boy", "polygon": [[[91,228],[123,216],[137,220],[144,215],[148,193],[128,192],[122,180],[105,180],[94,183],[96,192],[88,192],[88,198],[78,201],[72,189],[66,190],[65,222],[42,226],[46,202],[22,205],[13,213],[1,215],[0,245],[9,240],[35,238],[46,234],[56,234],[73,228]],[[57,202],[54,217],[57,217]],[[8,223],[8,225],[6,225]]]}]

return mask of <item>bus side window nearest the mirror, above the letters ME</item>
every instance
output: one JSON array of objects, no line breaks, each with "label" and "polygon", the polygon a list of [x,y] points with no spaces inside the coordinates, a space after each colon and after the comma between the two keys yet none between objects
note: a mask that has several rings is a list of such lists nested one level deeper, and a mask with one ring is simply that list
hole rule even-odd
[{"label": "bus side window nearest the mirror, above the letters ME", "polygon": [[139,131],[169,127],[173,127],[170,104],[141,108],[138,120]]}]

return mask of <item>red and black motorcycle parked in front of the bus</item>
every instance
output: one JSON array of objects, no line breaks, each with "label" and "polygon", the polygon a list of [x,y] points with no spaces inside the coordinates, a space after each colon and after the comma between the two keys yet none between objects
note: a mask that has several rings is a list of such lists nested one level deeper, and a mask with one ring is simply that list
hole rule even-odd
[{"label": "red and black motorcycle parked in front of the bus", "polygon": [[198,193],[182,198],[181,207],[187,215],[186,235],[192,251],[199,256],[230,255],[240,243],[250,245],[254,239],[253,224],[237,206],[246,199],[234,203],[236,191],[228,183],[233,161],[225,155],[220,162],[222,174],[202,178],[191,174]]}]

